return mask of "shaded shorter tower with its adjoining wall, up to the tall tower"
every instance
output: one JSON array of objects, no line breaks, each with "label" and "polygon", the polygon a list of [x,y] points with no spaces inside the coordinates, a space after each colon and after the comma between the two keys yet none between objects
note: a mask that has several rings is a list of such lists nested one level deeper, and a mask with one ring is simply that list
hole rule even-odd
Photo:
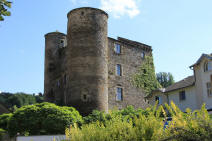
[{"label": "shaded shorter tower with its adjoining wall, up to the tall tower", "polygon": [[[66,35],[52,32],[45,35],[45,101],[63,105]],[[64,43],[61,43],[64,42]]]}]

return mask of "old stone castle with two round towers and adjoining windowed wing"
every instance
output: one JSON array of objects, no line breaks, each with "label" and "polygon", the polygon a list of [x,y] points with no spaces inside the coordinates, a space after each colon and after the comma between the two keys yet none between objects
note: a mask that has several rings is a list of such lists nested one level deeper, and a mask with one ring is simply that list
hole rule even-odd
[{"label": "old stone castle with two round towers and adjoining windowed wing", "polygon": [[144,93],[131,84],[150,46],[108,37],[108,14],[83,7],[68,13],[67,35],[45,35],[45,101],[73,106],[86,115],[133,105],[144,108]]}]

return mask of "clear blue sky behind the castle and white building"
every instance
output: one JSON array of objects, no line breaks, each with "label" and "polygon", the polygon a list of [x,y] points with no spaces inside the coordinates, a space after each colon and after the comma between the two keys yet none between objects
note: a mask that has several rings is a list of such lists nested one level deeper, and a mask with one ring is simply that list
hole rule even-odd
[{"label": "clear blue sky behind the castle and white building", "polygon": [[0,22],[0,91],[43,92],[44,34],[66,33],[67,13],[82,6],[108,12],[108,36],[152,46],[156,72],[176,81],[212,53],[211,0],[16,0]]}]

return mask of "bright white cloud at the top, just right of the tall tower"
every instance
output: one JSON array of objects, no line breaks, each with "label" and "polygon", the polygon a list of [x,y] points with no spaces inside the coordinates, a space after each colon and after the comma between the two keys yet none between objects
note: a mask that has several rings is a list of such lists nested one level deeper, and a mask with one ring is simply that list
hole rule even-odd
[{"label": "bright white cloud at the top, just right of the tall tower", "polygon": [[128,15],[130,18],[137,16],[140,11],[138,2],[140,0],[100,0],[100,9],[110,12],[115,18]]}]

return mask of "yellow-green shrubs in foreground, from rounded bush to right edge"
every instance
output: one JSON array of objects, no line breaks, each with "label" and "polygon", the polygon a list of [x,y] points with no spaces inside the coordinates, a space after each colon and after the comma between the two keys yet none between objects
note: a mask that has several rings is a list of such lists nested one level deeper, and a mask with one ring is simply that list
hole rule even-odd
[{"label": "yellow-green shrubs in foreground, from rounded bush to right edge", "polygon": [[[201,110],[182,112],[173,102],[162,106],[135,110],[128,107],[121,111],[112,111],[109,119],[101,112],[95,112],[89,124],[78,127],[76,124],[66,129],[66,136],[71,141],[210,141],[212,138],[212,120],[205,105]],[[161,116],[161,113],[163,116]],[[167,113],[172,121],[164,128]],[[130,115],[130,116],[129,116]],[[128,116],[128,118],[126,118]],[[92,117],[92,116],[90,116]],[[123,118],[125,117],[125,118]],[[104,120],[102,120],[104,119]]]}]

